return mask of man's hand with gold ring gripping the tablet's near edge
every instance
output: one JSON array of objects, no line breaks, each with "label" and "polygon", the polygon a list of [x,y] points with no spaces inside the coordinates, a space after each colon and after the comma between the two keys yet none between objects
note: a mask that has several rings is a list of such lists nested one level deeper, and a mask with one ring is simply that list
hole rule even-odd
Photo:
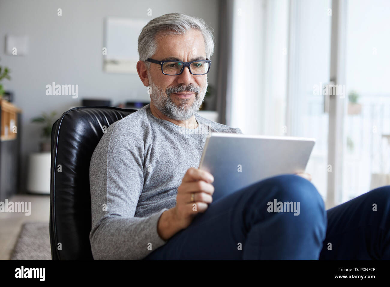
[{"label": "man's hand with gold ring gripping the tablet's near edge", "polygon": [[186,228],[199,212],[205,212],[213,201],[214,181],[211,173],[189,168],[177,188],[176,206],[163,212],[157,225],[157,232],[168,240],[181,229]]}]

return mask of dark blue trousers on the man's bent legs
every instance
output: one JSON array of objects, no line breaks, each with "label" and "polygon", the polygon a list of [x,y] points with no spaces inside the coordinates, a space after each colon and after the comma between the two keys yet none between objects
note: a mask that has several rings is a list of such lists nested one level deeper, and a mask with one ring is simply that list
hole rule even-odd
[{"label": "dark blue trousers on the man's bent legs", "polygon": [[208,259],[390,259],[390,186],[326,211],[308,180],[274,176],[211,203],[144,258]]}]

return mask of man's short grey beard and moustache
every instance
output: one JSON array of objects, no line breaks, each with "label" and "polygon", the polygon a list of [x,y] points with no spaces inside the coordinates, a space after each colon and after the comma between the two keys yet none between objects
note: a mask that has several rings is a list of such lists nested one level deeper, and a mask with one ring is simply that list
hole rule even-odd
[{"label": "man's short grey beard and moustache", "polygon": [[[176,121],[184,121],[191,118],[195,112],[199,111],[202,105],[204,95],[206,94],[208,81],[206,79],[205,87],[198,87],[193,84],[188,86],[168,87],[165,91],[156,86],[149,77],[149,85],[151,87],[150,98],[153,105],[164,116],[174,119]],[[176,105],[170,97],[172,93],[193,92],[195,93],[195,100],[189,104],[191,99],[180,99],[179,105]],[[168,96],[169,95],[169,96]]]}]

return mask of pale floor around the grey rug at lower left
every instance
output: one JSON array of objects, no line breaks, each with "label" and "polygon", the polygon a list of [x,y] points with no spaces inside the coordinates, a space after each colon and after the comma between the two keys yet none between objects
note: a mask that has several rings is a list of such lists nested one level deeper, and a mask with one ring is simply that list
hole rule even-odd
[{"label": "pale floor around the grey rug at lower left", "polygon": [[0,212],[0,260],[9,260],[23,223],[27,221],[49,222],[50,195],[20,194],[12,196],[8,202],[31,202],[29,216],[20,212]]}]

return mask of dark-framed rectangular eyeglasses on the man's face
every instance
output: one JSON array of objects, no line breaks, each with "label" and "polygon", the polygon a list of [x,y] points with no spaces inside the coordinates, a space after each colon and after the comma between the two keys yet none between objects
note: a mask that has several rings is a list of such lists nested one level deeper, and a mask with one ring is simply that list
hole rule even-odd
[{"label": "dark-framed rectangular eyeglasses on the man's face", "polygon": [[159,64],[161,66],[161,72],[164,75],[177,76],[183,73],[184,68],[188,67],[192,75],[205,75],[209,72],[211,66],[211,60],[195,60],[191,62],[182,62],[175,60],[157,61],[154,59],[147,59],[146,61]]}]

